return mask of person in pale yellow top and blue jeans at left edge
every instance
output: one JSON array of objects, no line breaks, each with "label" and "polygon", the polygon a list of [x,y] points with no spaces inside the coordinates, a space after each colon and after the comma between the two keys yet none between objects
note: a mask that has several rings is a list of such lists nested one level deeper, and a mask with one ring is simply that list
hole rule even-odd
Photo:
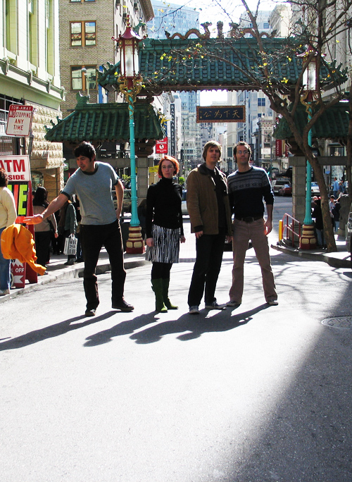
[{"label": "person in pale yellow top and blue jeans at left edge", "polygon": [[[15,223],[17,218],[15,198],[8,189],[8,176],[0,169],[0,237],[1,233]],[[0,296],[10,293],[11,259],[5,259],[0,247]]]}]

